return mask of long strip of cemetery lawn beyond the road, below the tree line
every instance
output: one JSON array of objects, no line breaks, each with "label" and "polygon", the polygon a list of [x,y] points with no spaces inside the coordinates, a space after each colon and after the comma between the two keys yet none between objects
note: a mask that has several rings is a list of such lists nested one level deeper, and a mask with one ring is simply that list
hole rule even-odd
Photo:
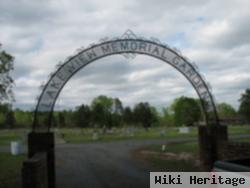
[{"label": "long strip of cemetery lawn beyond the road, below the tree line", "polygon": [[[125,128],[114,128],[112,133],[102,134],[102,129],[97,129],[98,139],[93,140],[93,129],[64,128],[55,129],[58,136],[62,137],[66,143],[85,143],[93,141],[118,141],[118,140],[146,140],[146,139],[169,139],[197,137],[197,128],[192,127],[187,134],[181,134],[176,127],[152,127],[148,131],[143,128],[132,128],[133,134],[124,134]],[[7,146],[11,141],[24,140],[25,135],[30,130],[14,129],[0,130],[0,146]],[[161,132],[164,131],[164,134]],[[229,126],[229,135],[250,134],[250,126]]]}]

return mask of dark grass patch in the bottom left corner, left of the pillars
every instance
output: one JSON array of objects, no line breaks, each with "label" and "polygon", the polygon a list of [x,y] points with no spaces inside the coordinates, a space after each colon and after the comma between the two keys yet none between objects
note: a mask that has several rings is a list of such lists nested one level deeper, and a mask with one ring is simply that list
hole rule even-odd
[{"label": "dark grass patch in the bottom left corner, left of the pillars", "polygon": [[21,167],[25,155],[0,153],[0,187],[21,188]]}]

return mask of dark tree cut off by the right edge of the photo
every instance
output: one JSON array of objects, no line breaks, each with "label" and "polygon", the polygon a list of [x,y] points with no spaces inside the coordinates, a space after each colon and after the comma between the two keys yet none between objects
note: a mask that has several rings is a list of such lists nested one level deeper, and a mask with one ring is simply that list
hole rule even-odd
[{"label": "dark tree cut off by the right edge of the photo", "polygon": [[246,89],[245,93],[241,95],[239,114],[250,123],[250,89]]}]

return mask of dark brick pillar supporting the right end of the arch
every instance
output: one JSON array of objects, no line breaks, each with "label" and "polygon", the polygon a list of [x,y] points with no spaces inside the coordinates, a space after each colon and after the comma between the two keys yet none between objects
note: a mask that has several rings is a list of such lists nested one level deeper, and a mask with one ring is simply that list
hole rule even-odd
[{"label": "dark brick pillar supporting the right end of the arch", "polygon": [[228,140],[227,126],[199,126],[198,134],[201,167],[211,171],[214,162],[219,159],[219,144]]}]

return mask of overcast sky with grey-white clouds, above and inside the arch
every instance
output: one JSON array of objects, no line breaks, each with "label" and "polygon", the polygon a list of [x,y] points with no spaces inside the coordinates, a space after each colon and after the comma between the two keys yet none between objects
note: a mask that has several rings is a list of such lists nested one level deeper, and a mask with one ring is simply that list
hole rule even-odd
[{"label": "overcast sky with grey-white clouds, above and inside the arch", "polygon": [[[249,7],[247,0],[1,0],[0,43],[15,56],[14,106],[34,108],[39,85],[76,49],[131,29],[180,49],[197,64],[216,101],[238,108],[240,94],[250,87]],[[169,65],[115,55],[78,72],[56,107],[89,104],[100,94],[157,107],[182,95],[197,97]]]}]

